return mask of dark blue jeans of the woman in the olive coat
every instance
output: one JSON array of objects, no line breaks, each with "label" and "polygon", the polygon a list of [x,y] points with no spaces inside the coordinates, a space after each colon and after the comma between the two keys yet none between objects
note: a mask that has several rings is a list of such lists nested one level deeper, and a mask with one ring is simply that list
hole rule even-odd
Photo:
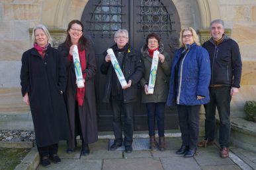
[{"label": "dark blue jeans of the woman in the olive coat", "polygon": [[165,136],[165,103],[146,103],[148,110],[149,136],[155,136],[155,117],[157,118],[158,136]]}]

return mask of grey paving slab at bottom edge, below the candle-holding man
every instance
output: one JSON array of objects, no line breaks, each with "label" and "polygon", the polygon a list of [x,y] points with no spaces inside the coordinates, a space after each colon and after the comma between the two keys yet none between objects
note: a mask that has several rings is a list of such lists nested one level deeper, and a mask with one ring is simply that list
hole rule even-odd
[{"label": "grey paving slab at bottom edge, below the candle-holding man", "polygon": [[103,170],[163,170],[161,162],[153,158],[105,159]]}]

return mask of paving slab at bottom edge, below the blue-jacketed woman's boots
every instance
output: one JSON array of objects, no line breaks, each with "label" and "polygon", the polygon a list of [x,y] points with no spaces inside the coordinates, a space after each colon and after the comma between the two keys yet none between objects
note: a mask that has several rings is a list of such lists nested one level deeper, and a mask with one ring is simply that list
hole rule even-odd
[{"label": "paving slab at bottom edge, below the blue-jacketed woman's boots", "polygon": [[161,157],[163,169],[200,169],[194,158],[185,157]]}]

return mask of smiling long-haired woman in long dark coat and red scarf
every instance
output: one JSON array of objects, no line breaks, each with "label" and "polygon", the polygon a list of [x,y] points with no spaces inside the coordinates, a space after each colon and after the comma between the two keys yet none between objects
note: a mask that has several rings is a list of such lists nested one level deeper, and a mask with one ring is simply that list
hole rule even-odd
[{"label": "smiling long-haired woman in long dark coat and red scarf", "polygon": [[[77,88],[75,69],[73,65],[73,47],[77,45],[84,88]],[[89,40],[83,37],[83,24],[79,20],[71,20],[67,26],[67,38],[58,50],[64,55],[64,62],[67,69],[67,90],[65,99],[67,114],[69,117],[69,128],[71,129],[71,140],[67,141],[67,153],[74,152],[77,145],[76,137],[82,140],[82,154],[90,154],[88,144],[97,142],[97,114],[95,103],[96,74],[95,53]]]}]

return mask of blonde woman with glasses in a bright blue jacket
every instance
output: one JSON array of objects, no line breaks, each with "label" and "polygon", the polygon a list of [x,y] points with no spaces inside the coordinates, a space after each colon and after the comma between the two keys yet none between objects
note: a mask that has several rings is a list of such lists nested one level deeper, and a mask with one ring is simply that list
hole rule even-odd
[{"label": "blonde woman with glasses in a bright blue jacket", "polygon": [[180,34],[180,49],[175,52],[167,105],[177,105],[182,146],[176,154],[192,157],[196,153],[199,133],[200,105],[208,103],[210,59],[200,47],[193,28],[184,28]]}]

